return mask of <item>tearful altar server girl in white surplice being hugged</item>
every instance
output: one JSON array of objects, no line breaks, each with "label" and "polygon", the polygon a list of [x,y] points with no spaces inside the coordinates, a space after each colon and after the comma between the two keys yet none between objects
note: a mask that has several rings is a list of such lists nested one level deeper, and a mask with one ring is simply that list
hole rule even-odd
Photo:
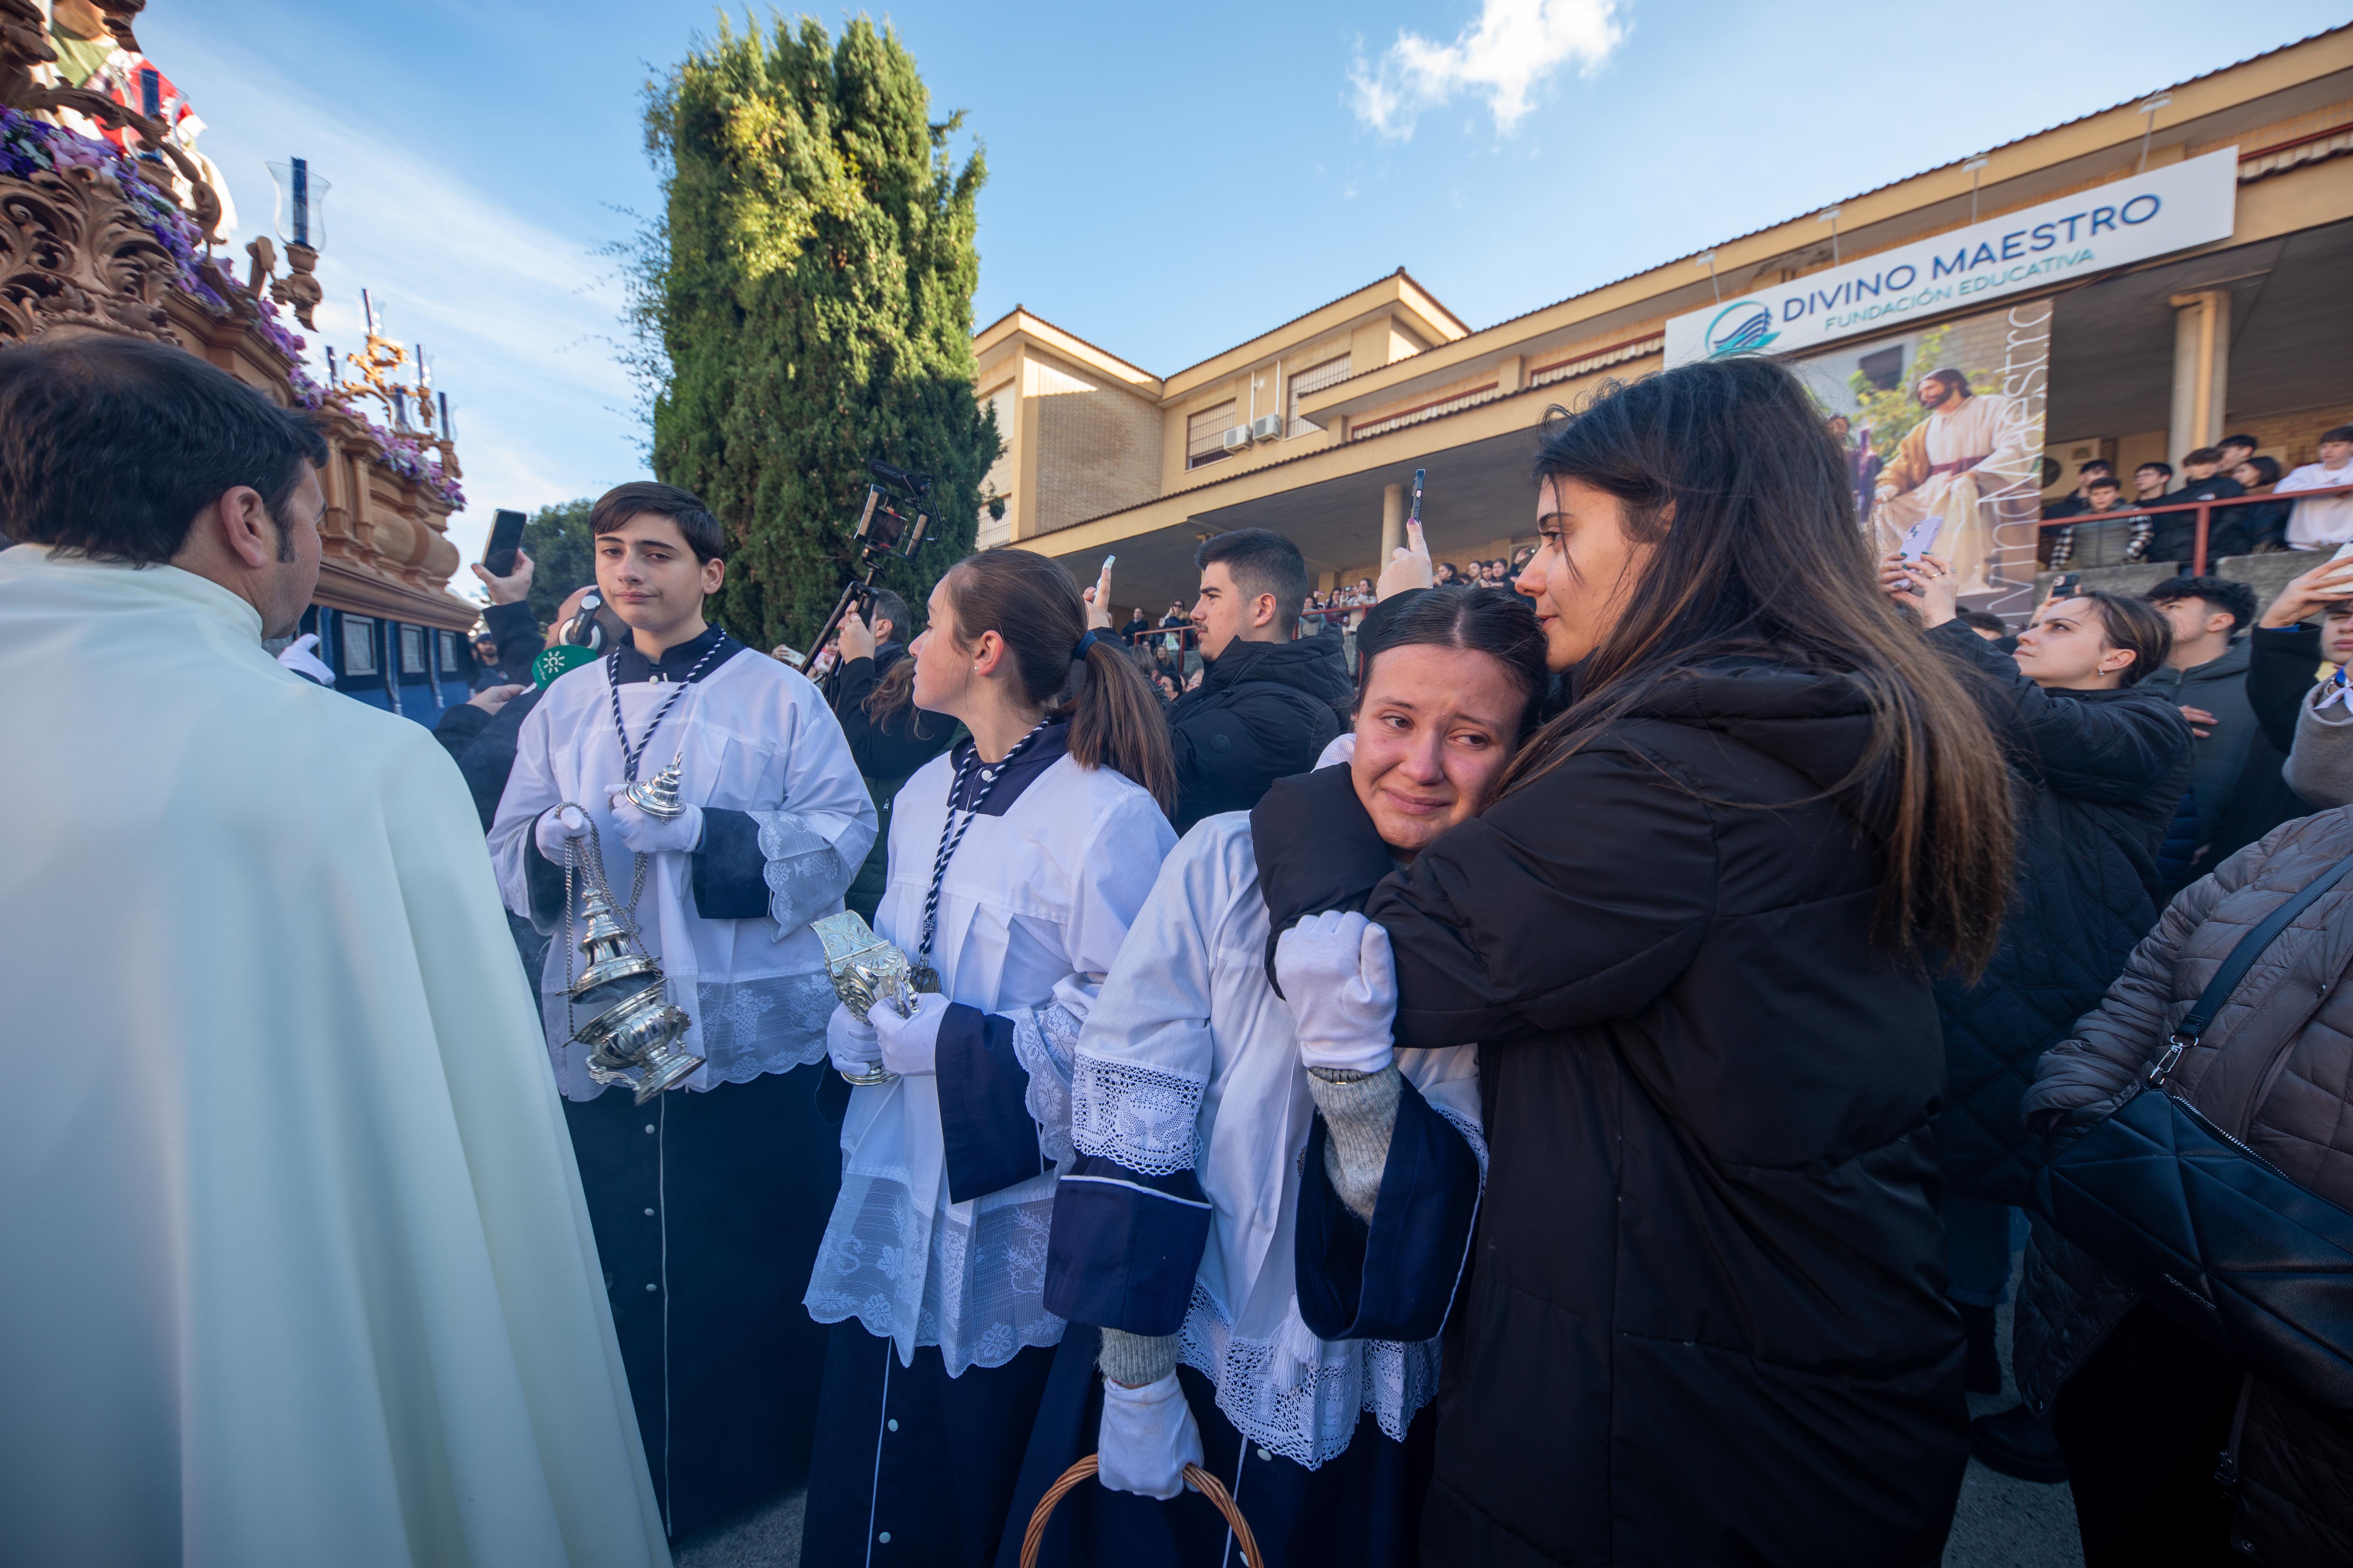
[{"label": "tearful altar server girl in white surplice being hugged", "polygon": [[1186,1462],[1273,1568],[1417,1561],[1487,1152],[1475,1048],[1391,1048],[1388,938],[1358,910],[1487,804],[1544,635],[1518,595],[1426,588],[1358,654],[1353,757],[1184,837],[1080,1034],[1045,1284],[1071,1331],[998,1568],[1089,1450],[1049,1568],[1238,1561]]}]

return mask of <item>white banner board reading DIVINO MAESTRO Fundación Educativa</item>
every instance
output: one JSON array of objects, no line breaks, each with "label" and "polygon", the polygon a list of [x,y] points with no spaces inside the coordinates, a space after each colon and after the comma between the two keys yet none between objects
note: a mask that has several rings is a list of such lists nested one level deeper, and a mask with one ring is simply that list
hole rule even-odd
[{"label": "white banner board reading DIVINO MAESTRO Fundaci\u00f3n Educativa", "polygon": [[2238,148],[2061,195],[1666,322],[1666,362],[1800,353],[2231,237]]}]

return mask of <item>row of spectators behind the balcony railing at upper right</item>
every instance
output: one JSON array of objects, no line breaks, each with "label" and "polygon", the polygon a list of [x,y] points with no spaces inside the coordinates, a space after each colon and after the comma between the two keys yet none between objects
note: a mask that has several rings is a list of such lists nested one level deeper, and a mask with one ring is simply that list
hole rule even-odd
[{"label": "row of spectators behind the balcony railing at upper right", "polygon": [[[2057,468],[2049,470],[2057,475]],[[2141,562],[2198,559],[2198,512],[2151,512],[2141,508],[2188,508],[2198,501],[2238,501],[2207,512],[2205,559],[2226,555],[2266,555],[2271,550],[2318,550],[2353,541],[2353,496],[2313,496],[2278,501],[2313,489],[2353,484],[2353,425],[2337,425],[2320,437],[2320,456],[2289,473],[2278,458],[2257,454],[2257,437],[2226,435],[2219,447],[2198,447],[2174,465],[2148,461],[2132,470],[2132,489],[2115,463],[2092,458],[2075,468],[2075,489],[2042,508],[2042,564],[2059,567],[2134,567]],[[2057,524],[2057,527],[2049,527]]]}]

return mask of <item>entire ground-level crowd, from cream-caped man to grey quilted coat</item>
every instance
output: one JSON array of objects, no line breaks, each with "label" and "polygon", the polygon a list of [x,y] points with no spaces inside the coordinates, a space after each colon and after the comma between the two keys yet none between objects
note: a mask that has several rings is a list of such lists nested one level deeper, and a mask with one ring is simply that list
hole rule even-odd
[{"label": "entire ground-level crowd, from cream-caped man to grey quilted coat", "polygon": [[2052,1194],[2153,1077],[2353,1206],[2353,562],[2009,625],[1737,357],[1555,411],[1515,559],[1242,529],[1118,625],[988,550],[819,682],[624,484],[428,736],[264,651],[320,461],[0,355],[5,1556],[666,1563],[805,1476],[812,1568],[1200,1563],[1209,1490],[1280,1568],[1927,1568],[1974,1453],[2089,1568],[2346,1561],[2341,1251],[2282,1373]]}]

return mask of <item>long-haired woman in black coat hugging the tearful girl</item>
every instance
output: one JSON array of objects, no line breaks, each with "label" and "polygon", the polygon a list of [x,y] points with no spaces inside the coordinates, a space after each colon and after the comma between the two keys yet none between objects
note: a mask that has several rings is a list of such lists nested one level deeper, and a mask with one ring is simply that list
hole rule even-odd
[{"label": "long-haired woman in black coat hugging the tearful girl", "polygon": [[1922,943],[1984,964],[1998,748],[1791,374],[1555,421],[1520,576],[1572,705],[1384,882],[1400,1046],[1492,1166],[1424,1559],[1927,1566],[1967,1462]]}]

